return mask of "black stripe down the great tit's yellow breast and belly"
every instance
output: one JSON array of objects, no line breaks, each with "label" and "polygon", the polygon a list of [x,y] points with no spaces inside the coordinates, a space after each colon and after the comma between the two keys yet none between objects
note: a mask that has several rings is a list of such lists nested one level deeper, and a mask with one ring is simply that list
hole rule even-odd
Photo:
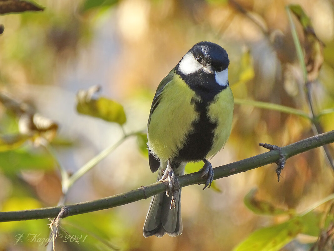
[{"label": "black stripe down the great tit's yellow breast and belly", "polygon": [[187,136],[187,140],[182,149],[179,150],[175,161],[199,161],[206,157],[211,149],[214,129],[217,124],[209,121],[207,117],[207,107],[210,102],[198,102],[195,104],[195,111],[199,113],[199,119],[192,123],[193,133]]}]

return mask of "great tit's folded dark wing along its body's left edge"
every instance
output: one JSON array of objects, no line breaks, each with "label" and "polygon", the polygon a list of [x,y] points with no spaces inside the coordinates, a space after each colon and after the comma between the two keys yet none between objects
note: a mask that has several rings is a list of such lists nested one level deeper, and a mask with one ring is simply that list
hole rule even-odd
[{"label": "great tit's folded dark wing along its body's left edge", "polygon": [[[160,84],[158,85],[157,91],[155,92],[155,95],[154,95],[154,98],[153,98],[153,101],[152,101],[152,106],[151,106],[151,110],[150,110],[150,115],[148,117],[147,127],[150,126],[152,113],[155,110],[155,108],[157,108],[157,106],[159,104],[160,94],[161,94],[162,90],[164,89],[164,87],[170,81],[172,81],[172,78],[173,78],[174,74],[175,74],[175,68],[173,70],[171,70],[168,73],[168,75],[163,80],[161,80]],[[148,162],[149,162],[149,165],[150,165],[150,169],[151,169],[152,172],[155,172],[160,167],[160,160],[157,159],[156,156],[151,151],[149,151],[148,153],[149,153],[148,154]]]}]

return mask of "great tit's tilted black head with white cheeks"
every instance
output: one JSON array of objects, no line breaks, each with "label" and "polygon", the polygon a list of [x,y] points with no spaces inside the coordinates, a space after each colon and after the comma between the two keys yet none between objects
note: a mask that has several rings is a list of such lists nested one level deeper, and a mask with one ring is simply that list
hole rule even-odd
[{"label": "great tit's tilted black head with white cheeks", "polygon": [[176,73],[197,93],[213,95],[228,86],[228,65],[228,55],[223,48],[211,42],[200,42],[183,56]]}]

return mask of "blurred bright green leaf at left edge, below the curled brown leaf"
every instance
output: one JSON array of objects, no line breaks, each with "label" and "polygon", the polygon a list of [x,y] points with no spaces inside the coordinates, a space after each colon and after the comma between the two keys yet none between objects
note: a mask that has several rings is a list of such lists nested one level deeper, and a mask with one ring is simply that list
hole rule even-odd
[{"label": "blurred bright green leaf at left edge, below the curled brown leaf", "polygon": [[54,160],[50,155],[30,153],[19,149],[14,151],[0,152],[0,168],[6,174],[16,174],[19,170],[51,169]]}]

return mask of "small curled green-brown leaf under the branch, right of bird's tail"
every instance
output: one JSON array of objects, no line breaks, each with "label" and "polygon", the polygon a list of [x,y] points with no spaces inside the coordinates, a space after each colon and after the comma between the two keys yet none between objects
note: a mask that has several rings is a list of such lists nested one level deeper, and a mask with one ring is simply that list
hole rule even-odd
[{"label": "small curled green-brown leaf under the branch, right of bird's tail", "polygon": [[252,210],[254,213],[259,215],[272,216],[291,213],[290,211],[275,207],[275,205],[268,201],[259,200],[256,197],[257,191],[257,188],[251,189],[251,191],[249,191],[243,199],[243,202],[247,208]]}]

